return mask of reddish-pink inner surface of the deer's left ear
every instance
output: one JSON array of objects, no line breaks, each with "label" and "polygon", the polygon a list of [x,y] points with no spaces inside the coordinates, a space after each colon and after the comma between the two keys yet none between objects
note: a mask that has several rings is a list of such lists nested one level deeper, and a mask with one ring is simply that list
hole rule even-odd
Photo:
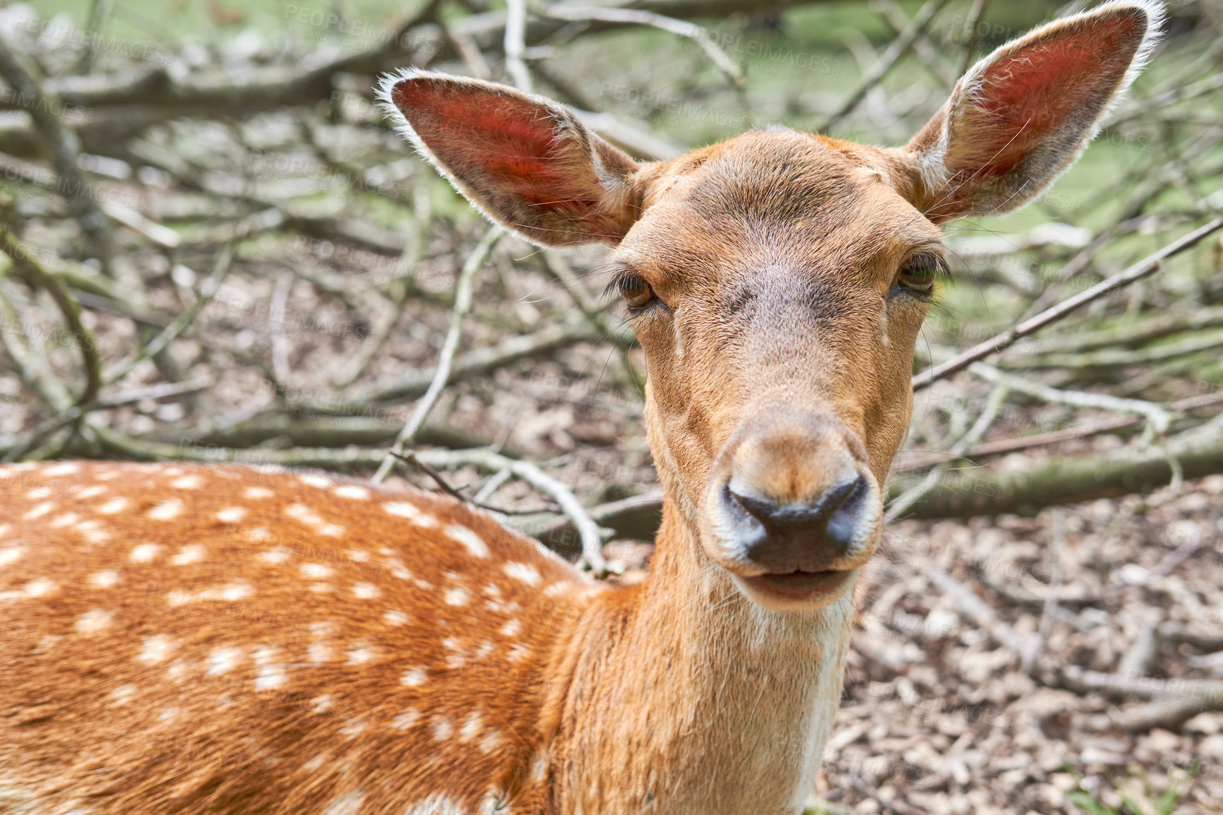
[{"label": "reddish-pink inner surface of the deer's left ear", "polygon": [[558,196],[572,185],[558,122],[542,105],[457,83],[407,80],[391,92],[429,149],[461,179],[478,174],[525,203],[580,213],[593,201]]}]

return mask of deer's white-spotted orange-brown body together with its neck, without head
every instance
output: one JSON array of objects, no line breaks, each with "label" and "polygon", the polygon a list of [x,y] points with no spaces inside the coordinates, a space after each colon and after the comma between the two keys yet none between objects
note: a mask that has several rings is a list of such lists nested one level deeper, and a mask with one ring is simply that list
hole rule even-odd
[{"label": "deer's white-spotted orange-brown body together with its neck, without head", "polygon": [[783,813],[832,724],[844,602],[779,623],[669,563],[613,591],[450,498],[314,474],[0,485],[6,815]]}]

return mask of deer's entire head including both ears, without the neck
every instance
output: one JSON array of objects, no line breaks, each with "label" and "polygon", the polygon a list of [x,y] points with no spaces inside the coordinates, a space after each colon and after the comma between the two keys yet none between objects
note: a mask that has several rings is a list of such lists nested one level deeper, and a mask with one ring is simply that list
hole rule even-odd
[{"label": "deer's entire head including both ears, without the neck", "polygon": [[772,127],[640,164],[501,86],[406,71],[382,95],[492,219],[537,244],[615,246],[668,498],[704,565],[766,608],[812,611],[882,536],[914,344],[945,268],[939,224],[1014,209],[1064,170],[1159,16],[1114,0],[1008,43],[893,149]]}]

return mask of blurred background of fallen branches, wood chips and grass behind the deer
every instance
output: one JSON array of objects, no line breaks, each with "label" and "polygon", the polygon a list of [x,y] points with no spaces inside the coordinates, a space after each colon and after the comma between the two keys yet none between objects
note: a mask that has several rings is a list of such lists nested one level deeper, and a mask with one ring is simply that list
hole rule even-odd
[{"label": "blurred background of fallen branches, wood chips and grass behind the deer", "polygon": [[[490,233],[375,77],[530,87],[641,159],[770,122],[900,144],[1087,5],[0,4],[0,460],[394,464],[638,581],[659,486],[604,250]],[[948,226],[811,813],[1223,811],[1223,2],[1168,15],[1069,173]]]}]

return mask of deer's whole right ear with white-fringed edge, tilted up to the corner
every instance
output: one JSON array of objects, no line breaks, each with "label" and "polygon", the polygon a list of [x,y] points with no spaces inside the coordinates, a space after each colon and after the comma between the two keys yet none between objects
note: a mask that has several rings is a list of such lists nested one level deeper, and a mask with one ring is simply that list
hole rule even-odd
[{"label": "deer's whole right ear with white-fringed edge, tilted up to the corner", "polygon": [[899,151],[917,176],[914,204],[942,223],[1031,201],[1099,130],[1150,56],[1162,22],[1156,0],[1113,0],[1042,26],[974,65]]}]

